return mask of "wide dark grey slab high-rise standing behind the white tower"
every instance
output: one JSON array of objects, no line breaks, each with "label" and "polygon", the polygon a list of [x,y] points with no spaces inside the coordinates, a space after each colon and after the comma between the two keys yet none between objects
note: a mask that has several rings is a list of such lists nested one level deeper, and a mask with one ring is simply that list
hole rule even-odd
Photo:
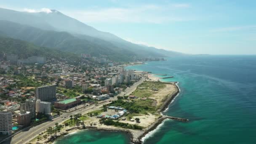
[{"label": "wide dark grey slab high-rise standing behind the white tower", "polygon": [[41,101],[53,101],[56,99],[56,85],[47,85],[35,89],[36,98]]}]

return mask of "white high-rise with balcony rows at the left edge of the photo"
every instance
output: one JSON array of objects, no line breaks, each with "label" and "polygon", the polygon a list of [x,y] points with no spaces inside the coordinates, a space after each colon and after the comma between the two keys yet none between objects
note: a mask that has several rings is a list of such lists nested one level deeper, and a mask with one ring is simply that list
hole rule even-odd
[{"label": "white high-rise with balcony rows at the left edge of the photo", "polygon": [[12,133],[12,118],[11,112],[0,112],[0,134],[10,135]]}]

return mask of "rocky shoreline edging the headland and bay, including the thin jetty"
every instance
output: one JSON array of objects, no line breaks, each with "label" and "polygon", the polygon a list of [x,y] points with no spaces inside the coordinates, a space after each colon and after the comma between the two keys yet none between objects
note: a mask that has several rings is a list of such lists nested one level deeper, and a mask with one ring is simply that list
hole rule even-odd
[{"label": "rocky shoreline edging the headland and bay, including the thin jetty", "polygon": [[[150,74],[152,75],[152,74]],[[155,77],[152,75],[152,77]],[[158,77],[156,77],[158,78]],[[168,83],[168,82],[162,82],[162,83]],[[176,96],[179,96],[180,93],[180,88],[177,85],[178,82],[170,82],[172,84],[174,84],[176,86],[176,91],[174,93],[169,94],[168,98],[165,100],[164,104],[157,110],[157,112],[160,112],[161,116],[158,117],[157,120],[155,120],[154,123],[152,123],[151,125],[149,125],[149,127],[143,129],[143,130],[131,130],[131,129],[123,129],[123,128],[101,128],[101,127],[94,127],[94,126],[86,126],[85,129],[82,130],[95,130],[95,131],[120,131],[120,132],[125,132],[130,136],[130,143],[131,144],[142,144],[143,141],[142,139],[151,131],[154,131],[158,125],[160,125],[161,123],[163,123],[164,120],[166,119],[173,119],[173,120],[179,120],[182,122],[187,122],[187,119],[183,119],[183,118],[179,118],[179,117],[170,117],[170,116],[166,116],[163,115],[162,112],[164,112],[166,109],[168,109],[168,106],[174,101],[174,99],[176,98]],[[169,83],[169,84],[170,84]],[[75,128],[75,127],[74,127]],[[71,133],[76,133],[78,131],[80,131],[81,129],[79,129],[78,127],[73,129],[72,131],[68,132],[67,135],[71,134]],[[58,137],[57,139],[61,138]],[[52,142],[54,142],[54,139]]]}]

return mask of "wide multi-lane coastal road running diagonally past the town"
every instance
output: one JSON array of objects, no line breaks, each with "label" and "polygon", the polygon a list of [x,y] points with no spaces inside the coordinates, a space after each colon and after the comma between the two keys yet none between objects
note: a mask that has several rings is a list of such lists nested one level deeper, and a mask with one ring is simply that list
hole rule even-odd
[{"label": "wide multi-lane coastal road running diagonally past the town", "polygon": [[[121,92],[117,96],[128,96],[128,95],[130,95],[133,91],[136,90],[138,85],[140,85],[141,83],[144,82],[144,80],[145,80],[145,78],[141,77],[141,80],[139,80],[138,82],[134,83],[131,87],[126,88],[125,91]],[[98,104],[98,106],[95,106],[95,104],[92,104],[89,107],[85,107],[85,108],[82,108],[82,109],[77,109],[77,110],[75,110],[73,112],[63,113],[60,117],[54,118],[53,121],[47,121],[47,122],[42,123],[40,125],[36,125],[36,126],[30,128],[27,131],[23,131],[23,132],[17,134],[16,136],[13,136],[12,139],[11,139],[11,144],[26,144],[29,141],[31,141],[32,139],[35,139],[35,137],[39,133],[42,133],[48,127],[50,127],[50,126],[53,127],[55,125],[55,123],[62,123],[65,120],[68,120],[70,115],[75,115],[75,114],[78,114],[78,113],[84,115],[84,114],[86,114],[88,112],[91,112],[91,111],[94,111],[94,110],[99,110],[99,109],[101,109],[101,107],[104,104],[111,103],[111,102],[109,102],[109,100],[111,100],[111,101],[117,100],[117,96],[115,98],[108,99],[108,100]]]}]

